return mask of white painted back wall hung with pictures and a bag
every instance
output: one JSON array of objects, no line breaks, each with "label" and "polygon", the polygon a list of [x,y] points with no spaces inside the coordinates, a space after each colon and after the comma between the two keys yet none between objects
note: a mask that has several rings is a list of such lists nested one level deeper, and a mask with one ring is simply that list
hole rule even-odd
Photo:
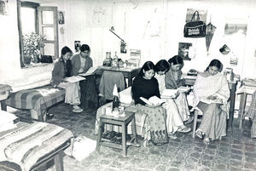
[{"label": "white painted back wall hung with pictures and a bag", "polygon": [[[256,2],[253,0],[140,0],[136,8],[129,0],[56,2],[42,5],[57,6],[65,11],[66,23],[59,25],[59,30],[61,27],[64,29],[64,34],[59,31],[60,50],[65,45],[74,50],[75,40],[87,43],[94,66],[102,65],[107,51],[111,51],[112,55],[117,51],[122,59],[129,58],[129,54],[119,54],[119,38],[108,31],[114,26],[115,32],[128,44],[128,52],[130,48],[142,50],[141,64],[146,60],[157,62],[171,58],[177,54],[178,43],[183,42],[193,43],[196,48],[195,59],[185,61],[183,71],[191,68],[203,71],[213,58],[221,60],[224,67],[229,67],[231,55],[218,51],[227,43],[239,59],[237,66],[231,66],[235,73],[255,78]],[[212,24],[217,26],[208,54],[205,38],[183,37],[188,8],[207,9],[207,23],[212,16]],[[20,71],[20,53],[15,0],[9,1],[9,9],[9,16],[0,16],[0,83],[4,77],[20,77],[16,74]],[[100,12],[103,12],[102,18]],[[245,37],[224,37],[224,25],[230,18],[246,20]]]}]

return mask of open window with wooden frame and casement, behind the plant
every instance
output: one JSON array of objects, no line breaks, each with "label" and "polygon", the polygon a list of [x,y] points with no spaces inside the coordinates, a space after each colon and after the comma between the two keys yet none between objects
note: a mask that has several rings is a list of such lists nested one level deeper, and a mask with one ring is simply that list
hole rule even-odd
[{"label": "open window with wooden frame and casement, behind the plant", "polygon": [[39,3],[17,1],[18,29],[20,36],[20,66],[24,67],[22,35],[37,32],[46,36],[45,47],[40,54],[59,56],[58,15],[56,7],[41,7]]}]

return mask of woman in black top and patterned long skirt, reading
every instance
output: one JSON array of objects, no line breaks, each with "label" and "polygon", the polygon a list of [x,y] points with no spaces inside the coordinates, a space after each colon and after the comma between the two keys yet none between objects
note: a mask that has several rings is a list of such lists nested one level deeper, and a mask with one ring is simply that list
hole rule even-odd
[{"label": "woman in black top and patterned long skirt, reading", "polygon": [[137,77],[135,77],[131,92],[137,111],[145,112],[148,117],[149,130],[148,133],[144,133],[144,143],[146,146],[148,140],[151,140],[154,145],[162,145],[168,143],[168,135],[166,132],[166,110],[159,105],[148,105],[140,98],[149,99],[156,96],[160,98],[159,84],[154,77],[155,66],[151,61],[147,61]]}]

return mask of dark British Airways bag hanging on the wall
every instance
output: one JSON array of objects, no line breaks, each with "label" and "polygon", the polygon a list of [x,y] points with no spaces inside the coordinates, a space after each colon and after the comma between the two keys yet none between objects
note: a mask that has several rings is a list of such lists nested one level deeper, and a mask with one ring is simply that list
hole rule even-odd
[{"label": "dark British Airways bag hanging on the wall", "polygon": [[200,20],[198,11],[195,11],[191,20],[185,24],[183,33],[184,37],[206,37],[206,24]]}]

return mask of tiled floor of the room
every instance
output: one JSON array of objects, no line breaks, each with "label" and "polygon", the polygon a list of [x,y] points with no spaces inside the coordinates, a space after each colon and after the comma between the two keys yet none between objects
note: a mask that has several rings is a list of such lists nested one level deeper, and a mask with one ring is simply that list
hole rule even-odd
[{"label": "tiled floor of the room", "polygon": [[[55,116],[48,123],[68,128],[76,136],[84,135],[96,140],[96,110],[88,109],[82,113],[73,113],[72,106],[61,103],[52,107],[49,112]],[[64,167],[67,171],[256,170],[256,140],[250,138],[250,122],[246,121],[243,130],[239,130],[236,123],[235,119],[234,126],[228,130],[226,137],[211,141],[210,145],[204,145],[198,138],[192,139],[191,132],[178,133],[178,139],[170,139],[167,145],[149,144],[147,148],[143,147],[143,141],[139,138],[141,146],[129,147],[126,158],[122,157],[121,151],[102,146],[101,151],[92,152],[81,162],[65,156]]]}]

